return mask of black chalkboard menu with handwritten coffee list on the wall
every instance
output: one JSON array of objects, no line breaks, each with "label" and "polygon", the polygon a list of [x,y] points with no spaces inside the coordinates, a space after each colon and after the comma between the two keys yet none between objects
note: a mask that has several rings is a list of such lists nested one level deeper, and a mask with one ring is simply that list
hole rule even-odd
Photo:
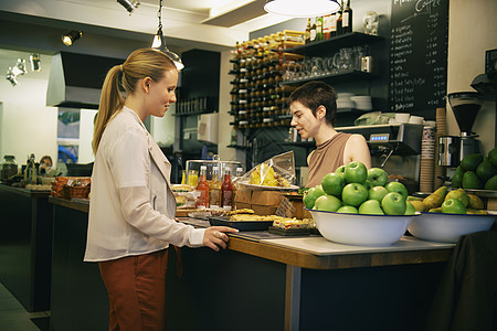
[{"label": "black chalkboard menu with handwritten coffee list on the wall", "polygon": [[391,111],[445,107],[448,0],[392,0]]}]

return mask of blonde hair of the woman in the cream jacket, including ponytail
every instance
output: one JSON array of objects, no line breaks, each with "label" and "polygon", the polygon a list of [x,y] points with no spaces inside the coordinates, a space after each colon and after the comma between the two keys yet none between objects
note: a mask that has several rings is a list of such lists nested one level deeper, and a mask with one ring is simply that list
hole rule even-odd
[{"label": "blonde hair of the woman in the cream jacket, including ponytail", "polygon": [[139,49],[129,54],[125,63],[113,66],[102,87],[101,104],[93,134],[93,152],[96,154],[102,135],[110,118],[123,109],[125,98],[119,90],[119,74],[126,95],[135,93],[138,81],[150,77],[155,82],[162,79],[165,73],[176,70],[175,63],[165,53],[154,49]]}]

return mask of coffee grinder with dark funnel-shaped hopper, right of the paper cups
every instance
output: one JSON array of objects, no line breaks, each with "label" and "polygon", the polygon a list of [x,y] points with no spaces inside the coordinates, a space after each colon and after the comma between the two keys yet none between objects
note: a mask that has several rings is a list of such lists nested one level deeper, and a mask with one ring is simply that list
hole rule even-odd
[{"label": "coffee grinder with dark funnel-shaped hopper, right of the paper cups", "polygon": [[447,95],[459,136],[442,136],[438,139],[438,166],[457,167],[464,157],[479,152],[478,135],[472,131],[482,102],[476,92],[457,92]]}]

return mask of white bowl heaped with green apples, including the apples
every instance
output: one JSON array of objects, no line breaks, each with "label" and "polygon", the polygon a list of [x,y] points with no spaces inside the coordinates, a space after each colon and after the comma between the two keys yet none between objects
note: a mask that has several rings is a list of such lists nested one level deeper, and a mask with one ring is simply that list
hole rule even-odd
[{"label": "white bowl heaped with green apples, including the apples", "polygon": [[358,246],[398,242],[419,215],[400,182],[388,182],[383,169],[358,161],[328,173],[304,194],[306,209],[328,241]]}]

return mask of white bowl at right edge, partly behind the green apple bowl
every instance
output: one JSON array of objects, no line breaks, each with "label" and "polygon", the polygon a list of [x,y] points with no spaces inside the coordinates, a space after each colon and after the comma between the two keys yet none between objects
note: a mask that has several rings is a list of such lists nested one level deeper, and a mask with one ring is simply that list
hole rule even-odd
[{"label": "white bowl at right edge, partly behind the green apple bowl", "polygon": [[424,241],[457,243],[462,235],[490,229],[495,218],[496,215],[421,213],[409,225],[409,232]]}]

